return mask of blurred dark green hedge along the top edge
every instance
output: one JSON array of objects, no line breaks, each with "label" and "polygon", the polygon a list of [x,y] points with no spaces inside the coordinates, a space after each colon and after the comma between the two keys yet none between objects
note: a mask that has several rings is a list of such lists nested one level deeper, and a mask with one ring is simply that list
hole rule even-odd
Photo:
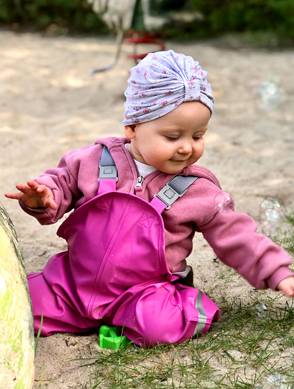
[{"label": "blurred dark green hedge along the top edge", "polygon": [[[100,8],[101,13],[92,11],[92,2],[95,0],[0,0],[0,27],[41,30],[54,35],[113,32],[102,20],[102,8],[106,9],[111,0],[96,1],[96,9]],[[116,5],[122,2],[116,1]],[[130,27],[140,30],[144,28],[141,8],[145,1],[135,2]],[[166,39],[215,38],[234,33],[242,45],[289,47],[294,43],[293,0],[150,0],[148,3],[154,18],[176,15],[180,10],[199,13],[197,22],[166,20],[161,31]]]}]

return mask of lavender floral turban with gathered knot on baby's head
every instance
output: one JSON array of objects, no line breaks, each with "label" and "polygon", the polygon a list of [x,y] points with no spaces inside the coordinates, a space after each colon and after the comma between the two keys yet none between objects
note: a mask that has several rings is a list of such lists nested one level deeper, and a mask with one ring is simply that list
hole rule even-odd
[{"label": "lavender floral turban with gathered knot on baby's head", "polygon": [[207,75],[190,56],[172,50],[149,53],[130,70],[123,124],[157,119],[184,101],[201,101],[212,113],[214,97]]}]

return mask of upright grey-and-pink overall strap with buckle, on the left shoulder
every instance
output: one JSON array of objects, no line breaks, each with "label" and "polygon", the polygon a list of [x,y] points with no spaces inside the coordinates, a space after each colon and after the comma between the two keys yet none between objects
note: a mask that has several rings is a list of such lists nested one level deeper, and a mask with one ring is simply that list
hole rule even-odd
[{"label": "upright grey-and-pink overall strap with buckle, on the left shoulder", "polygon": [[104,146],[99,161],[98,195],[103,192],[115,191],[118,181],[117,169],[109,149]]}]

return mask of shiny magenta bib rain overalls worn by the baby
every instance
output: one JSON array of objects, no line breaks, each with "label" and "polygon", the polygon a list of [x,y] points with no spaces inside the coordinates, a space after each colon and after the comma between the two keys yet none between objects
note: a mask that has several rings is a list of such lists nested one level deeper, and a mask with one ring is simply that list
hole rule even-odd
[{"label": "shiny magenta bib rain overalls worn by the baby", "polygon": [[116,179],[104,177],[100,168],[98,195],[57,231],[68,250],[28,275],[35,332],[42,313],[41,335],[106,323],[148,347],[205,333],[219,308],[198,289],[176,283],[167,269],[161,212],[169,206],[157,196],[148,203],[118,192]]}]

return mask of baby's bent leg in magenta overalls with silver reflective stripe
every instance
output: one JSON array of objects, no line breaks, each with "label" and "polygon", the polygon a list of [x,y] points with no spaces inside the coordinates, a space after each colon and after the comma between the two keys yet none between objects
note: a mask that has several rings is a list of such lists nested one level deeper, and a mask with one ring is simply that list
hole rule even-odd
[{"label": "baby's bent leg in magenta overalls with silver reflective stripe", "polygon": [[[141,290],[140,290],[141,289]],[[107,316],[135,344],[181,343],[205,333],[218,320],[218,306],[204,293],[181,284],[143,283],[117,299]]]}]

